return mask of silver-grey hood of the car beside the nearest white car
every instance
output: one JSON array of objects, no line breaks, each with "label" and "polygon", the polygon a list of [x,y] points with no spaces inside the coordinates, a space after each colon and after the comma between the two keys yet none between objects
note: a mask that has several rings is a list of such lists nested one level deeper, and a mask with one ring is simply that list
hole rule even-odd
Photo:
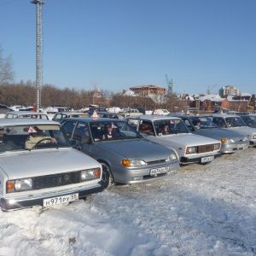
[{"label": "silver-grey hood of the car beside the nearest white car", "polygon": [[146,139],[131,139],[99,143],[99,146],[120,154],[126,159],[143,159],[145,161],[163,160],[174,151]]}]

